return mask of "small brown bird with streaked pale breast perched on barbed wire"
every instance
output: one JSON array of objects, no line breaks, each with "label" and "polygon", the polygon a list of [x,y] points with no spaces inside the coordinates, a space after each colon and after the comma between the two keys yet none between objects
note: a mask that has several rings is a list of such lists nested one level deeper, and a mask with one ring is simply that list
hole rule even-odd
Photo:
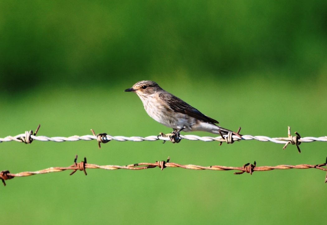
[{"label": "small brown bird with streaked pale breast perched on barbed wire", "polygon": [[179,137],[181,130],[184,132],[206,131],[221,136],[232,132],[240,137],[240,134],[238,134],[240,129],[236,133],[216,125],[219,124],[217,120],[204,115],[180,98],[163,90],[154,81],[139,81],[124,91],[136,93],[142,100],[144,109],[150,117],[173,129],[170,141]]}]

